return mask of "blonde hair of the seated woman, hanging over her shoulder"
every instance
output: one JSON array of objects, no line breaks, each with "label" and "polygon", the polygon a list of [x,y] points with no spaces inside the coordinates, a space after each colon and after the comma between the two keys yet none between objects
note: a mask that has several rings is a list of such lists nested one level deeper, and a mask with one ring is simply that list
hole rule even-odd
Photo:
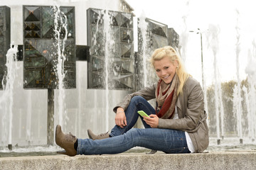
[{"label": "blonde hair of the seated woman, hanging over her shoulder", "polygon": [[183,62],[181,60],[181,57],[178,55],[176,50],[174,50],[174,48],[171,46],[161,47],[154,50],[153,55],[151,55],[151,59],[150,59],[152,66],[154,67],[155,61],[162,60],[164,57],[169,57],[169,60],[173,64],[175,61],[178,63],[176,74],[178,76],[180,84],[178,86],[177,95],[180,93],[182,94],[183,86],[190,75],[186,72]]}]

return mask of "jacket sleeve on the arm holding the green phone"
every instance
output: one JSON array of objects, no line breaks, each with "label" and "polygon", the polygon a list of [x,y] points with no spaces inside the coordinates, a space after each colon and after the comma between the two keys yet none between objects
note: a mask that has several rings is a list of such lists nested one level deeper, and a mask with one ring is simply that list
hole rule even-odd
[{"label": "jacket sleeve on the arm holding the green phone", "polygon": [[201,115],[204,115],[203,91],[197,81],[193,84],[187,84],[187,86],[189,87],[185,88],[185,91],[183,91],[185,94],[181,97],[182,102],[186,104],[186,109],[183,108],[185,107],[183,104],[183,107],[177,106],[178,113],[182,113],[182,116],[179,115],[179,119],[159,118],[159,128],[170,128],[187,132],[196,130],[201,120]]}]

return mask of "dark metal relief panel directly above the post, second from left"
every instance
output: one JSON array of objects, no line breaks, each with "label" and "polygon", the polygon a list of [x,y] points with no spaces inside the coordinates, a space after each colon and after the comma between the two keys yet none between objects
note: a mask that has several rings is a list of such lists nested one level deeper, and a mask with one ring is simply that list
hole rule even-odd
[{"label": "dark metal relief panel directly above the post, second from left", "polygon": [[[65,89],[75,88],[75,8],[60,6],[60,18],[67,18],[68,39],[65,40]],[[60,26],[58,18],[58,26]],[[54,28],[53,6],[23,6],[23,86],[29,89],[56,89],[55,64],[58,47]],[[58,28],[57,28],[58,29]],[[63,40],[65,29],[60,29]],[[60,44],[63,47],[63,43]]]}]

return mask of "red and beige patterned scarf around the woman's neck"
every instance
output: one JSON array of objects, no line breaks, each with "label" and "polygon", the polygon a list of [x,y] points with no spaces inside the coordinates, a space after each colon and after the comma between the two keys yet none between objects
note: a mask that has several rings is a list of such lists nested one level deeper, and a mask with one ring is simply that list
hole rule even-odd
[{"label": "red and beige patterned scarf around the woman's neck", "polygon": [[177,100],[178,76],[175,74],[170,84],[162,79],[156,86],[156,115],[159,118],[170,119],[174,117]]}]

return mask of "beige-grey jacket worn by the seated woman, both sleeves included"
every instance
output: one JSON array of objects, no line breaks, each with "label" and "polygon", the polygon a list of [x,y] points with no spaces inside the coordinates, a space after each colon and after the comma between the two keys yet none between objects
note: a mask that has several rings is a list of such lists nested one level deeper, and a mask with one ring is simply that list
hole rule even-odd
[{"label": "beige-grey jacket worn by the seated woman, both sleeves included", "polygon": [[[142,96],[147,101],[156,98],[155,90],[156,84],[133,94],[128,94],[121,103],[114,107],[114,112],[117,111],[118,107],[124,108],[125,111],[133,96]],[[209,145],[209,130],[206,124],[207,115],[204,112],[203,91],[198,81],[192,77],[188,78],[183,86],[183,94],[178,95],[176,106],[178,119],[159,118],[158,128],[169,128],[188,132],[196,152],[203,152]]]}]

